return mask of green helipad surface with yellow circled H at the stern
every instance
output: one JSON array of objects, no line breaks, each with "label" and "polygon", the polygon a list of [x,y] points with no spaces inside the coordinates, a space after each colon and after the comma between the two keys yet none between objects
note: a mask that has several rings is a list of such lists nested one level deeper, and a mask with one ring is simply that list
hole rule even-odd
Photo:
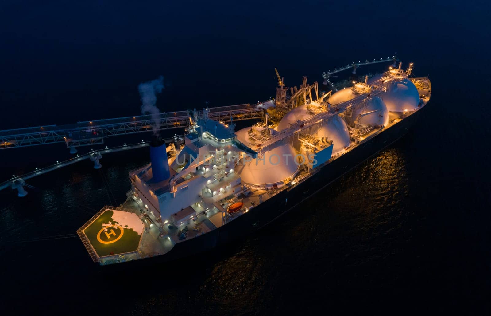
[{"label": "green helipad surface with yellow circled H at the stern", "polygon": [[144,229],[138,216],[115,207],[102,209],[101,212],[97,218],[87,222],[85,228],[82,227],[83,235],[97,256],[135,252]]}]

